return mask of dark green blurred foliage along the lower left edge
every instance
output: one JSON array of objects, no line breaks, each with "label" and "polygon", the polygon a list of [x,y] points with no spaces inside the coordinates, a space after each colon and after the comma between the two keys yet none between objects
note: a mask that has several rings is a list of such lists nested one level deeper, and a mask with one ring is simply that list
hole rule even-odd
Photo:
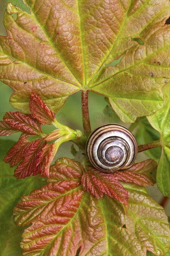
[{"label": "dark green blurred foliage along the lower left edge", "polygon": [[26,179],[17,180],[13,177],[15,168],[3,162],[7,150],[12,147],[14,141],[0,140],[0,255],[20,256],[20,240],[23,228],[13,222],[13,207],[20,201],[22,195],[28,195],[33,189],[38,189],[46,182],[40,175],[30,176]]}]

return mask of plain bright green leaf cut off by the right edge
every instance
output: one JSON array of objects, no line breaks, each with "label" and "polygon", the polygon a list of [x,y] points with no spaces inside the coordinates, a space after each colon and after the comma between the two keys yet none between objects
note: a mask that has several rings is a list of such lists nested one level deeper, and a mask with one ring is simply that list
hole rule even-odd
[{"label": "plain bright green leaf cut off by the right edge", "polygon": [[170,84],[163,88],[164,105],[156,112],[157,119],[148,117],[153,128],[160,133],[162,154],[157,167],[157,186],[165,196],[170,197]]}]

